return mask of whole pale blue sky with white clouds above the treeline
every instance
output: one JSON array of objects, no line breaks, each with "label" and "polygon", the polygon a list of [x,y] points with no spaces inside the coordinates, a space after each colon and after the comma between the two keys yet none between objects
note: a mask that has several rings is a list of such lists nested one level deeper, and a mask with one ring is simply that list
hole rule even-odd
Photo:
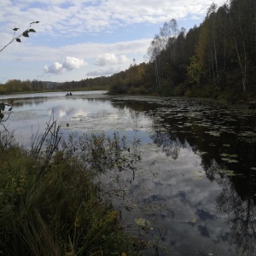
[{"label": "whole pale blue sky with white clouds above the treeline", "polygon": [[[188,32],[200,26],[212,0],[1,0],[0,83],[9,79],[79,81],[119,73],[148,61],[165,22]],[[218,6],[225,0],[215,0]],[[19,28],[16,32],[14,28]]]}]

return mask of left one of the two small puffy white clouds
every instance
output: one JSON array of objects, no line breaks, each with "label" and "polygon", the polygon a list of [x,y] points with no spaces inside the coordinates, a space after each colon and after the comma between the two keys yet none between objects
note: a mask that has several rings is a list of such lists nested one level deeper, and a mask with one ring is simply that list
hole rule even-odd
[{"label": "left one of the two small puffy white clouds", "polygon": [[80,67],[83,67],[85,65],[84,60],[79,60],[75,57],[69,57],[67,56],[65,60],[61,63],[54,62],[51,66],[44,66],[44,72],[45,73],[55,73],[60,74],[63,73],[65,70],[73,70],[73,69],[79,69]]}]

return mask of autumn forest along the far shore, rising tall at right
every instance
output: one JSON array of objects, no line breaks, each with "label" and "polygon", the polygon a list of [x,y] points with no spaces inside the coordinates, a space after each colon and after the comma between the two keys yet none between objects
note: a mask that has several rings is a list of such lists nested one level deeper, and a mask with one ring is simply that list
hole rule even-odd
[{"label": "autumn forest along the far shore, rising tall at right", "polygon": [[[256,1],[230,0],[207,9],[200,26],[186,32],[176,20],[160,27],[148,45],[148,62],[109,77],[83,79],[53,88],[108,88],[113,94],[224,97],[243,102],[256,96]],[[19,80],[18,80],[19,81]],[[17,90],[17,80],[0,85]],[[21,86],[22,85],[22,86]],[[20,90],[37,90],[40,81],[20,81]]]}]

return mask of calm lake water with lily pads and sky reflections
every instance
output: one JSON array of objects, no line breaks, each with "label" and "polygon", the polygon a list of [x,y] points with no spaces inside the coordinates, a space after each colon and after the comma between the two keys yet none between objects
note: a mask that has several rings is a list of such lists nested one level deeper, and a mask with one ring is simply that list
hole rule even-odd
[{"label": "calm lake water with lily pads and sky reflections", "polygon": [[24,147],[51,114],[63,134],[119,131],[141,140],[134,175],[107,178],[125,229],[148,241],[145,255],[236,255],[242,248],[255,255],[256,112],[103,93],[0,96],[0,102],[15,100],[6,125]]}]

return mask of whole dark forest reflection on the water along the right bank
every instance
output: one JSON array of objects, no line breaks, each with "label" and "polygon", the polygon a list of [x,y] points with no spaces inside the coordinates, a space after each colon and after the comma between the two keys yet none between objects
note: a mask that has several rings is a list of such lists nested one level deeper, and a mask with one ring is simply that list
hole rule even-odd
[{"label": "whole dark forest reflection on the water along the right bank", "polygon": [[[230,244],[236,245],[237,251],[254,255],[256,188],[253,174],[248,170],[255,166],[255,137],[252,137],[255,113],[175,98],[154,105],[153,110],[150,110],[152,102],[127,101],[126,104],[147,112],[153,119],[154,134],[150,138],[167,157],[177,160],[182,148],[192,148],[195,154],[201,155],[206,177],[212,183],[217,182],[221,189],[215,205],[229,226]],[[230,162],[226,162],[227,157]]]}]

